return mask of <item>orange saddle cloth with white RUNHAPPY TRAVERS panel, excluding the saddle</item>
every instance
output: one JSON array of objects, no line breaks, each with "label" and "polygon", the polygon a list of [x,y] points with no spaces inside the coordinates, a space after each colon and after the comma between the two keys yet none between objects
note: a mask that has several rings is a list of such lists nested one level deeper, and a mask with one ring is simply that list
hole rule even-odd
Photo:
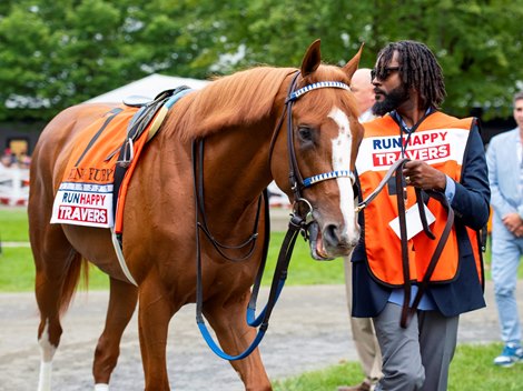
[{"label": "orange saddle cloth with white RUNHAPPY TRAVERS panel, excluding the saddle", "polygon": [[148,131],[144,131],[134,142],[134,158],[119,189],[115,221],[115,169],[120,148],[126,140],[128,124],[138,111],[137,108],[130,107],[119,109],[119,112],[107,112],[76,134],[75,147],[55,197],[51,223],[115,227],[116,232],[121,232],[126,188],[147,141]]}]

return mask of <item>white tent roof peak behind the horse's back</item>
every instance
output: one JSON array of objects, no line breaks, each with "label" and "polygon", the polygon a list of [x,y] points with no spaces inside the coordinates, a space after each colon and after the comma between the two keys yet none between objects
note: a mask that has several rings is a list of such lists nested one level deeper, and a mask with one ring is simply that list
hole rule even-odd
[{"label": "white tent roof peak behind the horse's back", "polygon": [[171,88],[187,86],[197,90],[204,88],[207,83],[209,81],[152,73],[144,79],[91,98],[85,103],[120,103],[125,98],[132,96],[154,99],[161,91]]}]

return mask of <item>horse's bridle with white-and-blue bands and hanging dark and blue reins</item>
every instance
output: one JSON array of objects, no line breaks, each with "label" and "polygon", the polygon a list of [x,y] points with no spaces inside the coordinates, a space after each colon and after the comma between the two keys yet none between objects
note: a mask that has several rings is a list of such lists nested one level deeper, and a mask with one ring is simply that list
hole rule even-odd
[{"label": "horse's bridle with white-and-blue bands and hanging dark and blue reins", "polygon": [[[294,149],[294,133],[293,133],[293,103],[296,101],[300,96],[305,94],[308,91],[313,91],[319,88],[341,88],[345,90],[349,90],[349,87],[337,81],[322,81],[317,83],[313,83],[306,86],[302,89],[295,90],[296,81],[299,76],[299,71],[293,77],[293,80],[289,84],[287,91],[287,99],[285,101],[285,108],[282,112],[282,117],[277,122],[277,127],[275,132],[273,133],[273,139],[270,141],[269,147],[269,167],[270,167],[270,159],[273,156],[274,146],[276,142],[276,138],[279,133],[279,130],[283,126],[285,114],[287,113],[287,151],[288,151],[288,160],[289,160],[289,182],[294,193],[294,212],[292,214],[290,221],[288,223],[288,230],[284,238],[284,242],[282,243],[282,248],[279,250],[278,260],[276,262],[276,268],[273,277],[273,281],[270,284],[270,291],[267,299],[267,303],[265,308],[262,310],[260,314],[256,317],[256,301],[259,292],[259,287],[262,283],[262,278],[267,260],[267,252],[268,252],[268,241],[269,241],[269,232],[270,232],[270,219],[269,219],[269,208],[268,208],[268,196],[267,191],[264,190],[264,200],[265,200],[265,242],[263,249],[263,258],[262,262],[258,268],[258,272],[256,274],[255,284],[253,285],[253,291],[250,294],[250,300],[247,307],[247,323],[250,327],[259,327],[257,334],[250,345],[241,353],[237,355],[229,355],[225,353],[218,344],[214,341],[213,337],[210,335],[204,320],[203,315],[203,284],[201,284],[201,249],[200,249],[200,241],[199,241],[199,231],[201,230],[207,239],[211,242],[214,248],[218,251],[218,253],[230,261],[243,261],[248,259],[256,245],[256,239],[258,237],[257,227],[259,221],[259,212],[262,207],[262,196],[258,199],[258,210],[256,213],[255,224],[253,234],[241,244],[238,245],[225,245],[219,243],[210,233],[210,230],[207,225],[206,213],[205,213],[205,202],[204,202],[204,140],[194,140],[193,141],[193,177],[194,177],[194,189],[195,189],[195,211],[196,211],[196,261],[197,261],[197,275],[196,275],[196,322],[198,324],[198,329],[200,330],[201,335],[204,337],[205,341],[209,345],[209,348],[220,358],[229,361],[234,360],[241,360],[249,355],[262,342],[265,332],[268,329],[268,321],[270,314],[273,312],[274,305],[276,304],[279,294],[285,285],[285,281],[287,279],[287,269],[290,262],[290,258],[294,250],[294,244],[296,243],[296,239],[300,231],[306,231],[307,225],[310,223],[313,217],[313,208],[310,203],[302,198],[300,191],[304,188],[310,187],[314,183],[334,179],[339,177],[348,177],[355,182],[355,176],[351,170],[338,170],[338,171],[330,171],[322,174],[317,174],[314,177],[309,177],[303,179],[299,168],[297,164],[296,153]],[[298,213],[298,208],[300,203],[305,203],[308,207],[308,212],[305,215],[300,215]],[[201,215],[201,221],[200,221]],[[241,249],[245,248],[250,243],[250,249],[246,255],[240,257],[239,259],[231,259],[223,249]]]}]

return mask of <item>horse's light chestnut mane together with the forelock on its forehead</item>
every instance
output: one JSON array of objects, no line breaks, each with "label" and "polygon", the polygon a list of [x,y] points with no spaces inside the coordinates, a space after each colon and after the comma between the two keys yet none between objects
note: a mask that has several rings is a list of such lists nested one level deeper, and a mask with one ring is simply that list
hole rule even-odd
[{"label": "horse's light chestnut mane together with the forelock on its forehead", "polygon": [[[248,127],[272,114],[278,92],[287,93],[288,86],[282,83],[296,71],[293,68],[257,67],[216,79],[175,104],[167,118],[165,131],[174,131],[177,137],[188,140],[229,127]],[[298,80],[297,88],[323,80],[351,83],[341,68],[328,64],[322,64]],[[318,117],[328,113],[333,103],[357,117],[353,96],[343,94],[342,100],[339,97],[336,89],[323,89],[322,93],[307,94],[304,99],[310,99],[307,107],[314,107]]]}]

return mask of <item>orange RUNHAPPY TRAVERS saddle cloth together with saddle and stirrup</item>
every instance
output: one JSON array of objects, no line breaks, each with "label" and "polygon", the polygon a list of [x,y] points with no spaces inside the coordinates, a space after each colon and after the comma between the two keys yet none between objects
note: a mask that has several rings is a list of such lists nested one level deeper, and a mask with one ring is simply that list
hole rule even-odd
[{"label": "orange RUNHAPPY TRAVERS saddle cloth together with saddle and stirrup", "polygon": [[55,197],[51,223],[114,227],[121,233],[127,184],[144,146],[190,91],[179,87],[139,108],[115,108],[80,130]]}]

